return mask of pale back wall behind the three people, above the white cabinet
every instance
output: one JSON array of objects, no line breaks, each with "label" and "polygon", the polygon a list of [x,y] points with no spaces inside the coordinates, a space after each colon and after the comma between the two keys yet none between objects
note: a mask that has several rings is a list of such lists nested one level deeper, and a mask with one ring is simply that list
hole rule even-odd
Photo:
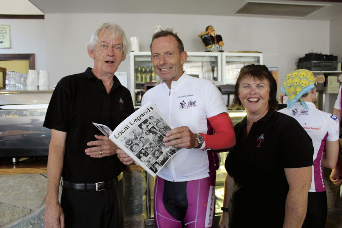
[{"label": "pale back wall behind the three people, above the white cabinet", "polygon": [[[140,51],[149,51],[149,39],[156,25],[173,27],[186,51],[204,51],[198,34],[213,25],[223,37],[224,51],[263,52],[266,66],[279,67],[279,82],[296,68],[296,61],[305,53],[312,50],[329,54],[329,21],[171,14],[45,14],[46,63],[52,83],[93,65],[87,44],[92,31],[107,21],[122,26],[128,38],[140,37]],[[129,58],[118,71],[129,75]]]}]

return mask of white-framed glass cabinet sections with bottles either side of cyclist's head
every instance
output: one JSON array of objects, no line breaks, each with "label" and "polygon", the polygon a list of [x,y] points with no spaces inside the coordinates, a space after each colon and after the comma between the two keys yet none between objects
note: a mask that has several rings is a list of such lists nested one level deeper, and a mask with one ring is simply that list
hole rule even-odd
[{"label": "white-framed glass cabinet sections with bottles either side of cyclist's head", "polygon": [[[188,58],[183,70],[193,77],[204,78],[215,84],[222,84],[220,52],[187,52]],[[130,53],[130,91],[133,104],[140,107],[141,98],[149,86],[159,83],[160,78],[154,72],[150,52]]]}]

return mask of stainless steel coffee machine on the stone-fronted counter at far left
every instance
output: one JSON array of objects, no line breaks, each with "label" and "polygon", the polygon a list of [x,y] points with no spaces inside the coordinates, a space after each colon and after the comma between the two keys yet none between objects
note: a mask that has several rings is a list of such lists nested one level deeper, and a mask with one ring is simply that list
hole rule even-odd
[{"label": "stainless steel coffee machine on the stone-fronted counter at far left", "polygon": [[47,156],[51,131],[43,121],[53,91],[0,91],[0,157]]}]

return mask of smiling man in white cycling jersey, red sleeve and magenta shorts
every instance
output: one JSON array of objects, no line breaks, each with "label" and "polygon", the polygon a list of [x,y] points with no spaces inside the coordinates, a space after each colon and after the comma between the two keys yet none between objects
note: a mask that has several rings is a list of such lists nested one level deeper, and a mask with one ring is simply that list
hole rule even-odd
[{"label": "smiling man in white cycling jersey, red sleeve and magenta shorts", "polygon": [[[216,86],[183,71],[187,53],[176,34],[155,33],[150,48],[162,80],[144,94],[142,105],[156,104],[175,127],[166,133],[165,145],[183,148],[157,174],[156,227],[213,227],[215,174],[220,165],[217,152],[235,145],[232,121]],[[133,163],[123,151],[117,153],[124,164]]]}]

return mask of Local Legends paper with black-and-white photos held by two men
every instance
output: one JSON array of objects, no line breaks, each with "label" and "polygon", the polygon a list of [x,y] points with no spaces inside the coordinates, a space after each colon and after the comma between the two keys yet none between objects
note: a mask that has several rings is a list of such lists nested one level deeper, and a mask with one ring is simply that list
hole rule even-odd
[{"label": "Local Legends paper with black-and-white photos held by two men", "polygon": [[136,110],[114,131],[106,125],[93,124],[152,176],[181,150],[164,145],[163,138],[173,126],[152,103]]}]

